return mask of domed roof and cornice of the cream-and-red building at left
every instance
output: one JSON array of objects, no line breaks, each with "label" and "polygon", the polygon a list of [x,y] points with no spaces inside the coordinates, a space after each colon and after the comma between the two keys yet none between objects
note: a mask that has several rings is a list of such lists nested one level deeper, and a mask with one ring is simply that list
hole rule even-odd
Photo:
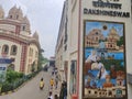
[{"label": "domed roof and cornice of the cream-and-red building at left", "polygon": [[[0,16],[1,13],[4,14],[4,11],[0,6]],[[35,32],[33,36],[30,35],[30,21],[26,15],[23,16],[21,8],[16,8],[16,6],[12,7],[9,10],[8,18],[0,19],[0,24],[7,24],[8,26],[11,25],[12,28],[20,28],[19,33],[16,33],[15,29],[9,31],[9,29],[0,28],[1,30],[0,36],[7,37],[9,40],[15,40],[16,42],[22,42],[26,44],[35,44],[38,48],[41,48],[38,42],[38,33]],[[23,30],[23,26],[25,26],[25,30]]]}]

